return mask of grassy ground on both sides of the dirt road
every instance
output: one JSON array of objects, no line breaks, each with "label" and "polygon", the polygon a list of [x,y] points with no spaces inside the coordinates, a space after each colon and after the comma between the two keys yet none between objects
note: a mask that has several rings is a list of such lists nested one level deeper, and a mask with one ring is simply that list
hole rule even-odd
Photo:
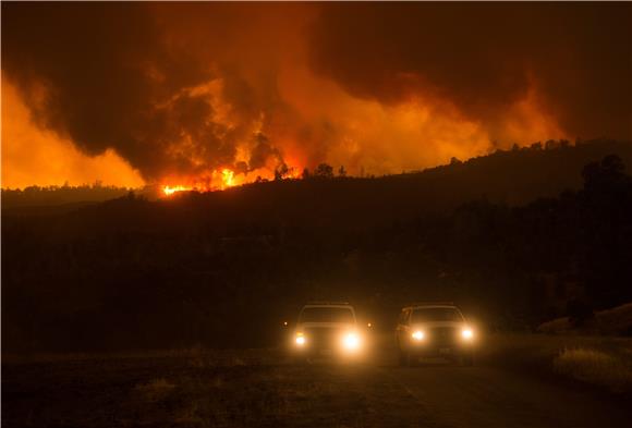
[{"label": "grassy ground on both sides of the dirt road", "polygon": [[[427,426],[394,380],[405,369],[387,337],[379,348],[366,364],[306,367],[280,350],[5,356],[2,426]],[[495,335],[482,338],[477,359],[625,394],[631,356],[629,339]]]}]

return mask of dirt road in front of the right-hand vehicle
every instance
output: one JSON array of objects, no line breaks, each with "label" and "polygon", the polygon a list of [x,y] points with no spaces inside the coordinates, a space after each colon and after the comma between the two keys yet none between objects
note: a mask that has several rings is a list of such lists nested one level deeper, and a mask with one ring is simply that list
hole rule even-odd
[{"label": "dirt road in front of the right-hand vehicle", "polygon": [[380,370],[416,401],[428,426],[627,427],[632,420],[631,409],[594,393],[493,367]]}]

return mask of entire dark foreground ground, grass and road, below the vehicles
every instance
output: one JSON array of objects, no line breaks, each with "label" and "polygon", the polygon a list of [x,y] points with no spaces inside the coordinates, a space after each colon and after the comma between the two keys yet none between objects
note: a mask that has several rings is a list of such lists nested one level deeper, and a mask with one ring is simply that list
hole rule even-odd
[{"label": "entire dark foreground ground, grass and road, below the vehicles", "polygon": [[295,366],[279,351],[5,362],[3,427],[628,427],[590,388],[428,362]]}]

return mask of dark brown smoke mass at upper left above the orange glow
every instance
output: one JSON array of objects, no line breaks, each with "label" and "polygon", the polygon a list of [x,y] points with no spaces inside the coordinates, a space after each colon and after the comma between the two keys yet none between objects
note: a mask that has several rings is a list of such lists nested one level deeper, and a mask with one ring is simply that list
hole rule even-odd
[{"label": "dark brown smoke mass at upper left above the orange glow", "polygon": [[[163,167],[163,139],[179,124],[155,113],[153,105],[161,91],[204,76],[159,47],[161,32],[146,7],[4,3],[2,15],[3,71],[26,95],[39,124],[66,134],[89,155],[113,147],[147,175]],[[147,75],[154,65],[169,75],[165,86]],[[49,91],[44,103],[32,94],[36,84]],[[189,121],[182,125],[196,125],[191,113],[205,107],[181,103],[187,112],[180,119]],[[156,139],[158,127],[167,134]]]}]

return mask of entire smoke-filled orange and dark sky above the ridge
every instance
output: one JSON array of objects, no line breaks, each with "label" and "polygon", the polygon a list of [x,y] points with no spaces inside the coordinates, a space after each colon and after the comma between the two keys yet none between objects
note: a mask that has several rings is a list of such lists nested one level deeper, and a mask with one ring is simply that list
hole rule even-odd
[{"label": "entire smoke-filled orange and dark sky above the ridge", "polygon": [[394,173],[598,136],[632,137],[625,3],[2,3],[3,187]]}]

